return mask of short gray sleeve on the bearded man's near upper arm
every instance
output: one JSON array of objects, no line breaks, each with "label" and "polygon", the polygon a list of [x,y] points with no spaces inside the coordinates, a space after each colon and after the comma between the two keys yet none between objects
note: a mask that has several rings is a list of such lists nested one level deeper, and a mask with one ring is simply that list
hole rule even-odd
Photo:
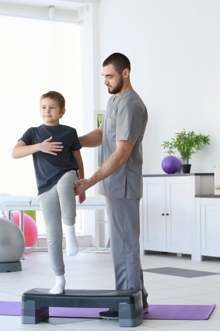
[{"label": "short gray sleeve on the bearded man's near upper arm", "polygon": [[118,109],[116,141],[128,140],[135,144],[142,130],[143,108],[138,103],[125,103]]}]

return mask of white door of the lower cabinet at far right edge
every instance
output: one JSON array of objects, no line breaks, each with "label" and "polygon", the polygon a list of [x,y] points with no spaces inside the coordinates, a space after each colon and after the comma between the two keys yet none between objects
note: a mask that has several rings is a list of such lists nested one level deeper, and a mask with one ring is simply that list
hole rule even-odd
[{"label": "white door of the lower cabinet at far right edge", "polygon": [[220,257],[220,199],[200,199],[201,255]]}]

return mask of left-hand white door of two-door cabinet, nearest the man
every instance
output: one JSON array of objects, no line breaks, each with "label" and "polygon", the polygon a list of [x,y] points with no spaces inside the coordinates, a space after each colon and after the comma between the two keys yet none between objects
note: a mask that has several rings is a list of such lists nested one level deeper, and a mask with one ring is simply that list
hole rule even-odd
[{"label": "left-hand white door of two-door cabinet, nearest the man", "polygon": [[164,177],[143,178],[143,240],[144,250],[166,252]]}]

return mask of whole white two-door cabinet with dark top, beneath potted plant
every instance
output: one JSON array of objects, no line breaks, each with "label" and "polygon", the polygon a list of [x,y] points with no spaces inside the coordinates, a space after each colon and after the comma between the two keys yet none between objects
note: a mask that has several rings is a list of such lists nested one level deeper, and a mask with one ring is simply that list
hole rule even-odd
[{"label": "whole white two-door cabinet with dark top, beneath potted plant", "polygon": [[143,177],[140,249],[191,254],[198,259],[196,194],[212,194],[214,174]]}]

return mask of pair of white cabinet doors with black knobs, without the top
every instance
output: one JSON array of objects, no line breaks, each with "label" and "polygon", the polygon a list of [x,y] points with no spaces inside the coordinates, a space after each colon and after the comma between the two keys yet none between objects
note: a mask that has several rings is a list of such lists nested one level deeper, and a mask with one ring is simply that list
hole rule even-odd
[{"label": "pair of white cabinet doors with black knobs, without the top", "polygon": [[144,250],[192,253],[190,177],[144,178]]}]

